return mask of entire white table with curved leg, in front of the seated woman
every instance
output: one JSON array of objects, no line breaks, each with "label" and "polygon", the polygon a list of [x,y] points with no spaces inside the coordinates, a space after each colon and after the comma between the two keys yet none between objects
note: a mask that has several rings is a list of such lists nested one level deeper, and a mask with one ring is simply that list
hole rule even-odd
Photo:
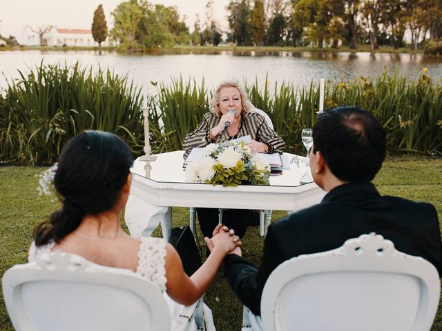
[{"label": "entire white table with curved leg, in front of the seated woman", "polygon": [[[222,185],[186,182],[182,169],[184,151],[157,154],[146,177],[144,161],[135,160],[131,194],[125,219],[134,237],[151,236],[161,223],[164,239],[172,228],[172,207],[236,208],[296,211],[318,203],[325,192],[315,183],[300,184],[305,163],[291,163],[280,176],[271,176],[269,186]],[[288,153],[285,153],[288,154]],[[288,154],[289,158],[293,154]]]}]

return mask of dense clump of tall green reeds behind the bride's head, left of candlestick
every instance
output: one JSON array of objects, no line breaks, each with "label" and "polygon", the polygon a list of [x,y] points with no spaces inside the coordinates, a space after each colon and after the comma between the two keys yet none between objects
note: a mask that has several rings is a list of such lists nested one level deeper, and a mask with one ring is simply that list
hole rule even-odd
[{"label": "dense clump of tall green reeds behind the bride's head, left of candlestick", "polygon": [[110,70],[44,65],[8,82],[1,101],[0,157],[52,163],[66,142],[83,130],[119,134],[140,152],[144,134],[141,90]]}]

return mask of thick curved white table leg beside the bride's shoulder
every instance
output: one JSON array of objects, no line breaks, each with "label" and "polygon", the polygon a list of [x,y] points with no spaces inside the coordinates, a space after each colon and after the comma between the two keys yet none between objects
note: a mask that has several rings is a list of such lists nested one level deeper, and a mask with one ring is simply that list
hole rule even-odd
[{"label": "thick curved white table leg beside the bride's shoulder", "polygon": [[133,194],[129,195],[124,212],[132,237],[149,237],[161,223],[163,238],[169,240],[172,229],[172,208],[152,205]]}]

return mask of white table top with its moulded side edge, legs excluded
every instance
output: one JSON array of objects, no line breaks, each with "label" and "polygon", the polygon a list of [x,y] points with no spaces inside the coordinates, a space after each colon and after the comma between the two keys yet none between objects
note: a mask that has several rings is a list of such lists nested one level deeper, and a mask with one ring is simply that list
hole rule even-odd
[{"label": "white table top with its moulded side edge, legs excluded", "polygon": [[[316,183],[300,183],[305,163],[291,163],[279,176],[271,176],[270,185],[227,186],[186,181],[182,168],[184,151],[155,155],[146,176],[146,162],[135,160],[131,172],[131,199],[155,206],[241,208],[258,210],[298,210],[320,202],[325,192]],[[289,159],[293,154],[288,154]],[[129,203],[130,204],[130,203]]]}]

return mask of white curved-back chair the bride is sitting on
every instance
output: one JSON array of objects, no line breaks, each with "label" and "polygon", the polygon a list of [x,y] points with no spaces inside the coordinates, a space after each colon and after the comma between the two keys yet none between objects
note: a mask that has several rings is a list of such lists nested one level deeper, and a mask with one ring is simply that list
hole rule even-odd
[{"label": "white curved-back chair the bride is sitting on", "polygon": [[[196,330],[202,300],[171,321],[162,292],[131,270],[61,251],[15,265],[2,279],[15,330]],[[198,329],[204,330],[204,329]]]}]

